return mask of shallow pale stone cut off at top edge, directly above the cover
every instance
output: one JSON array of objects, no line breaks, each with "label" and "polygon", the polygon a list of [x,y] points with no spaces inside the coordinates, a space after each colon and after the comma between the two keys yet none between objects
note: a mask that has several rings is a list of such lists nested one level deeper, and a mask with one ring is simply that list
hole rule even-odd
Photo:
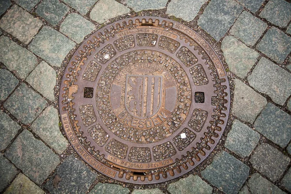
[{"label": "shallow pale stone cut off at top edge, directly above the cover", "polygon": [[168,0],[126,0],[126,4],[135,12],[142,10],[164,9]]}]

